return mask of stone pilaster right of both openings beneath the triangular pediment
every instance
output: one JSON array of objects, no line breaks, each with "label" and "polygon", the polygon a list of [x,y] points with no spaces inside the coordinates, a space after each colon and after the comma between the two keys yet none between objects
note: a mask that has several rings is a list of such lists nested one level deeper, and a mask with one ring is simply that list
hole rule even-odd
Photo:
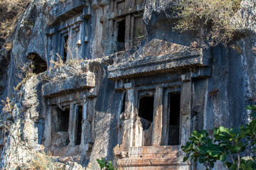
[{"label": "stone pilaster right of both openings beneath the triangular pediment", "polygon": [[185,145],[191,135],[192,84],[189,74],[181,76],[181,145]]}]

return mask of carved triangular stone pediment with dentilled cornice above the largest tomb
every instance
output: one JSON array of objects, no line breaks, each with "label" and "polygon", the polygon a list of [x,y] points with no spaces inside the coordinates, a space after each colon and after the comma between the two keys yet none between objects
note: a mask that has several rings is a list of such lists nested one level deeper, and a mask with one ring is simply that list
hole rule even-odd
[{"label": "carved triangular stone pediment with dentilled cornice above the largest tomb", "polygon": [[109,79],[146,77],[182,69],[208,67],[210,59],[203,49],[192,49],[164,40],[151,40],[134,57],[137,59],[108,67]]}]

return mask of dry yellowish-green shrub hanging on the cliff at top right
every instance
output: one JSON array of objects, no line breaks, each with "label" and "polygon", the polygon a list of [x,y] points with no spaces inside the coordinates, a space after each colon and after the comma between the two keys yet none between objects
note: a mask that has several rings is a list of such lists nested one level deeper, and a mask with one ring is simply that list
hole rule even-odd
[{"label": "dry yellowish-green shrub hanging on the cliff at top right", "polygon": [[181,0],[178,11],[181,20],[176,23],[178,30],[202,30],[209,45],[223,45],[233,39],[235,25],[233,16],[240,9],[242,0]]}]

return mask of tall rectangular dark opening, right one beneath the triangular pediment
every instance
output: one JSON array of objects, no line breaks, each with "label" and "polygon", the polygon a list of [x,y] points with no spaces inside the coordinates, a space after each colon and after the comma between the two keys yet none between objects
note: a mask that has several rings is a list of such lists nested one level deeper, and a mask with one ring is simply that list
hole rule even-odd
[{"label": "tall rectangular dark opening, right one beneath the triangular pediment", "polygon": [[169,138],[168,145],[179,145],[181,94],[169,93]]}]

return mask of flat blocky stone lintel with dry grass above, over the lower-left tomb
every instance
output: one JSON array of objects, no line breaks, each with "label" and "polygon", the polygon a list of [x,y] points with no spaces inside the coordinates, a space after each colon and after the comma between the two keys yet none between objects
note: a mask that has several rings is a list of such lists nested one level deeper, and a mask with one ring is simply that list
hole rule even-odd
[{"label": "flat blocky stone lintel with dry grass above, over the lower-left tomb", "polygon": [[81,77],[70,77],[43,85],[43,96],[60,96],[71,91],[95,87],[95,74],[87,72]]}]

